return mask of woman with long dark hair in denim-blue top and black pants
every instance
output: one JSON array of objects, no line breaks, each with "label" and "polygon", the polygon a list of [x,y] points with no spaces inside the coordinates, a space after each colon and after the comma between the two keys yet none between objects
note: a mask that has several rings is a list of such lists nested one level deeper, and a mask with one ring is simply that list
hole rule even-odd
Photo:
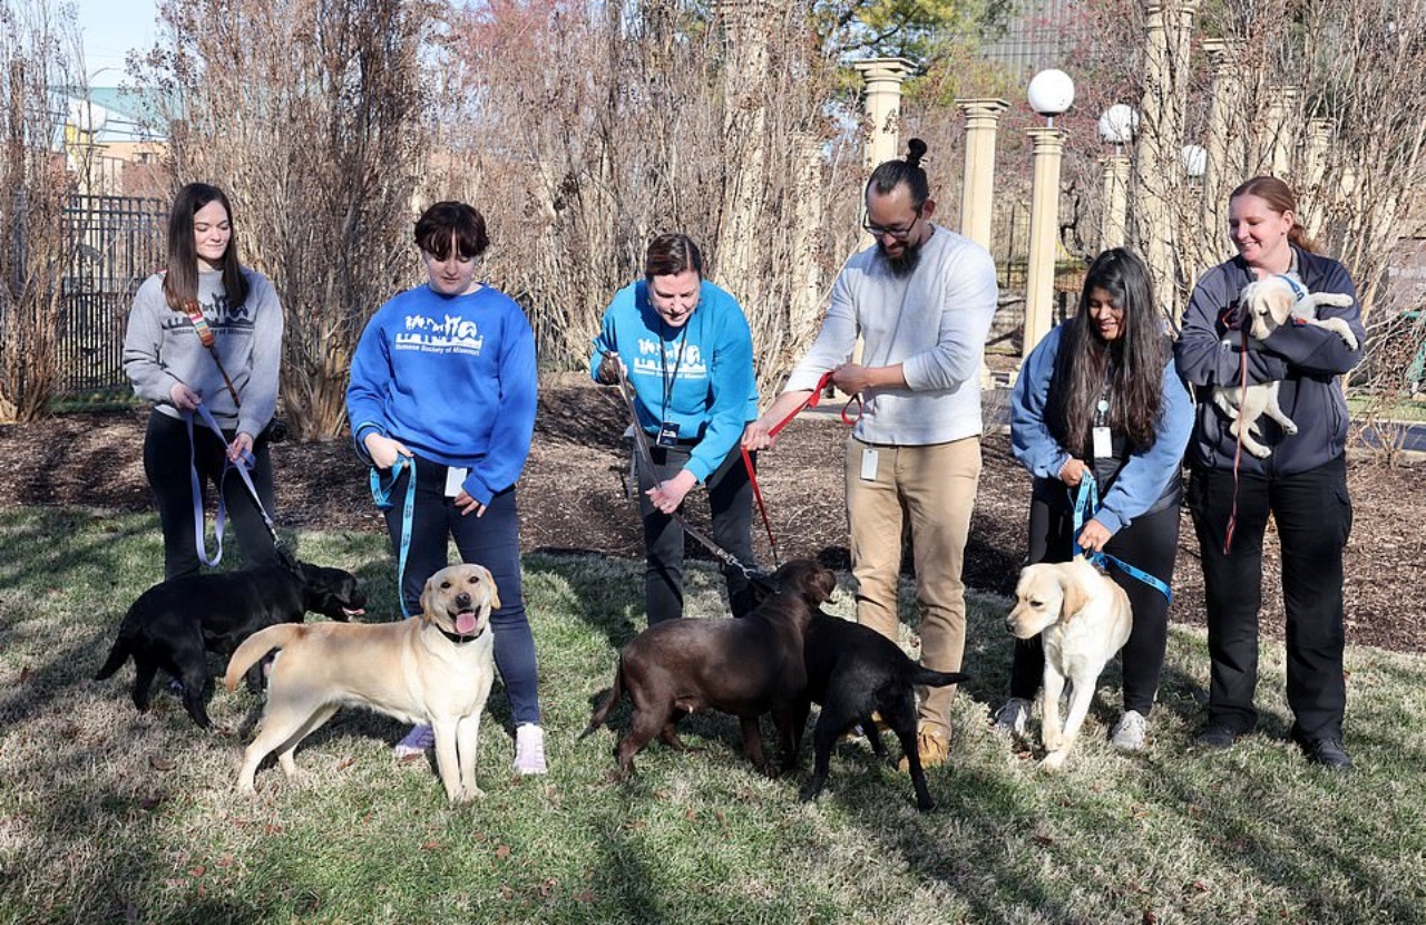
[{"label": "woman with long dark hair in denim-blue top and black pants", "polygon": [[[1045,335],[1015,380],[1011,444],[1034,475],[1028,561],[1070,561],[1075,540],[1171,587],[1179,468],[1192,424],[1148,270],[1124,248],[1099,254],[1085,274],[1079,311]],[[1099,504],[1075,535],[1075,498],[1087,478]],[[1111,739],[1138,751],[1164,669],[1168,598],[1119,568],[1109,575],[1134,610],[1122,654],[1124,715]],[[1015,642],[1011,699],[997,712],[997,728],[1024,732],[1044,664],[1040,637]]]}]

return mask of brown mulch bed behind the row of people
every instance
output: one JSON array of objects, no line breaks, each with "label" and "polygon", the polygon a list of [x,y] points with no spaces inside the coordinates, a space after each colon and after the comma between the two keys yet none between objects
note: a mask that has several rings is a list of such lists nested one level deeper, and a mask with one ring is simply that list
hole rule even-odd
[{"label": "brown mulch bed behind the row of people", "polygon": [[[540,407],[520,480],[526,550],[640,557],[629,468],[622,443],[626,413],[616,394],[562,374],[542,383]],[[113,511],[151,510],[140,447],[147,411],[68,414],[36,424],[0,427],[0,505],[83,505]],[[804,414],[783,431],[759,464],[759,482],[781,560],[820,558],[847,568],[841,447],[846,427],[836,413]],[[279,525],[382,531],[366,490],[366,471],[349,441],[274,450]],[[995,594],[1014,590],[1025,555],[1030,478],[1010,454],[1004,434],[984,441],[984,472],[965,582]],[[1419,467],[1353,460],[1348,481],[1355,522],[1346,554],[1346,631],[1353,644],[1426,651],[1416,594],[1426,581],[1426,480]],[[690,515],[703,511],[694,498]],[[757,521],[763,562],[770,561]],[[1176,622],[1204,622],[1202,574],[1192,524],[1184,514],[1174,582]],[[1266,544],[1262,627],[1282,635],[1276,542]],[[689,554],[709,558],[690,541]],[[907,565],[910,568],[910,565]]]}]

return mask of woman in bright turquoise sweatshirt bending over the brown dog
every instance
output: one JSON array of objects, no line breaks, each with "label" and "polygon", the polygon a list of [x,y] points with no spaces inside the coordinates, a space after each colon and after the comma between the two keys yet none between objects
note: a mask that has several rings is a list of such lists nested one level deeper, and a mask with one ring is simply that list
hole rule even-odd
[{"label": "woman in bright turquoise sweatshirt bending over the brown dog", "polygon": [[[615,294],[589,361],[613,384],[619,365],[633,387],[653,472],[639,471],[649,625],[683,615],[683,528],[673,512],[707,485],[713,541],[753,562],[753,490],[743,428],[757,418],[753,335],[737,300],[703,278],[703,254],[684,234],[649,244],[645,278]],[[753,610],[747,575],[724,565],[734,617]]]}]

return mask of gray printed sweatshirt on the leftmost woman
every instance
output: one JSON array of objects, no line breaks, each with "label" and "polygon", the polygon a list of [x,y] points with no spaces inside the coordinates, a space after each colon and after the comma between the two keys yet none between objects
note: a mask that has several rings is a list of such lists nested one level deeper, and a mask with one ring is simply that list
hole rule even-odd
[{"label": "gray printed sweatshirt on the leftmost woman", "polygon": [[221,273],[198,274],[198,305],[212,328],[222,368],[242,400],[241,411],[193,321],[164,300],[163,274],[144,280],[128,310],[124,371],[134,384],[134,394],[155,403],[168,417],[181,417],[168,393],[174,383],[183,383],[198,393],[224,430],[257,437],[277,410],[282,307],[267,277],[247,268],[242,274],[248,280],[248,297],[241,305],[228,304]]}]

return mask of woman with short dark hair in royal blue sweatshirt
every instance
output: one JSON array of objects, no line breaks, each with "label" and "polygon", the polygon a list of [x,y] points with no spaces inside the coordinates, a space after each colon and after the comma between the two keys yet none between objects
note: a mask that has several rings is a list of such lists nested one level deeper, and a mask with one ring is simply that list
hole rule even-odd
[{"label": "woman with short dark hair in royal blue sweatshirt", "polygon": [[[463,561],[495,577],[503,607],[491,625],[515,721],[515,769],[545,774],[515,502],[535,433],[535,334],[509,295],[475,278],[475,258],[489,246],[479,211],[436,203],[415,236],[428,281],[366,323],[352,357],[347,418],[356,453],[389,491],[386,530],[401,561],[402,608],[419,612],[426,578],[446,565],[448,537]],[[416,727],[396,755],[419,758],[431,744],[431,728]]]}]

